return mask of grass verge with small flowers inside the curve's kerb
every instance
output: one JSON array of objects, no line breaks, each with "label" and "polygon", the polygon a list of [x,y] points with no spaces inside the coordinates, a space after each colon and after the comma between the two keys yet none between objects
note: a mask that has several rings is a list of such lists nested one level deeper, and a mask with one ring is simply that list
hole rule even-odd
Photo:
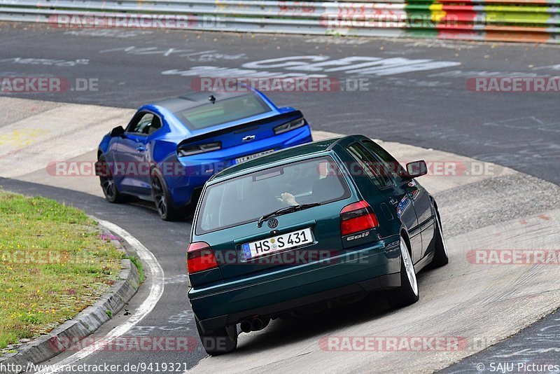
[{"label": "grass verge with small flowers inside the curve's kerb", "polygon": [[0,191],[0,349],[94,304],[121,258],[80,210]]}]

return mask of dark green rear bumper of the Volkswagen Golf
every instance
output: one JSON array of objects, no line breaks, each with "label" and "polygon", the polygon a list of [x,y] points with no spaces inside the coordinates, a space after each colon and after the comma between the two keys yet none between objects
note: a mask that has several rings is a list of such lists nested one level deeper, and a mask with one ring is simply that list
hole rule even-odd
[{"label": "dark green rear bumper of the Volkswagen Golf", "polygon": [[377,242],[332,262],[320,267],[307,264],[272,279],[253,277],[243,284],[191,289],[188,296],[200,326],[206,330],[255,315],[271,317],[327,300],[400,286],[398,241]]}]

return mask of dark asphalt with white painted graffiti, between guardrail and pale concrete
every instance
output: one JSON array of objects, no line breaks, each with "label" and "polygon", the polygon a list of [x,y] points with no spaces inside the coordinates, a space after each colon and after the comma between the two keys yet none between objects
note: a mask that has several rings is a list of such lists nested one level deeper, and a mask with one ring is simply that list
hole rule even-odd
[{"label": "dark asphalt with white painted graffiti, between guardrail and pale concrete", "polygon": [[[327,62],[348,57],[446,62],[449,67],[402,73],[409,61],[391,60],[395,63],[391,69],[363,76],[369,82],[368,92],[272,92],[270,96],[281,104],[297,104],[317,130],[340,132],[342,127],[346,133],[468,155],[560,183],[560,166],[555,162],[560,156],[560,125],[554,92],[513,95],[466,88],[467,77],[489,74],[556,76],[560,71],[556,46],[377,39],[334,44],[316,42],[311,36],[64,30],[44,25],[22,29],[21,25],[0,25],[1,76],[47,74],[99,80],[97,92],[33,94],[33,99],[134,109],[191,90],[193,76],[179,72],[248,76],[246,70],[271,71],[323,74],[342,81],[358,76],[342,70],[270,67],[274,63],[255,67],[254,62],[293,56],[328,56]],[[357,65],[365,60],[351,61]],[[320,69],[327,68],[332,67]]]}]

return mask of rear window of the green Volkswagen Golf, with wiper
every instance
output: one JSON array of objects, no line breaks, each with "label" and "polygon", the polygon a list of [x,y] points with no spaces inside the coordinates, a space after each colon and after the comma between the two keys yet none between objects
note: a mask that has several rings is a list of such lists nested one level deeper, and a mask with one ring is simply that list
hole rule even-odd
[{"label": "rear window of the green Volkswagen Golf, with wiper", "polygon": [[276,166],[209,186],[202,197],[196,233],[256,221],[290,205],[333,202],[349,196],[348,184],[329,156]]}]

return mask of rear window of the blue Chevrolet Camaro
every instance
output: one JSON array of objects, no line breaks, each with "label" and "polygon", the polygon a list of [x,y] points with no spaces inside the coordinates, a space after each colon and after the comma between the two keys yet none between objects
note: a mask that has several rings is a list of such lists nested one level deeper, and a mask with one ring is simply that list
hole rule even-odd
[{"label": "rear window of the blue Chevrolet Camaro", "polygon": [[206,127],[221,125],[223,123],[258,116],[270,111],[264,100],[254,94],[232,97],[230,99],[216,100],[195,108],[176,112],[181,122],[191,130],[200,130]]}]

